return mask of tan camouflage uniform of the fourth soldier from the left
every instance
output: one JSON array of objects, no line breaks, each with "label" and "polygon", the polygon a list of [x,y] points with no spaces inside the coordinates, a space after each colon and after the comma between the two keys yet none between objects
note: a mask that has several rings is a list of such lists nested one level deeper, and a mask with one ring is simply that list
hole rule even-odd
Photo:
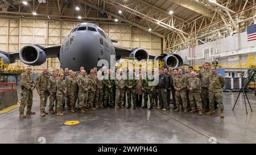
[{"label": "tan camouflage uniform of the fourth soldier from the left", "polygon": [[65,80],[57,79],[56,86],[57,86],[57,93],[56,93],[57,111],[60,111],[65,99],[64,91],[67,90]]}]

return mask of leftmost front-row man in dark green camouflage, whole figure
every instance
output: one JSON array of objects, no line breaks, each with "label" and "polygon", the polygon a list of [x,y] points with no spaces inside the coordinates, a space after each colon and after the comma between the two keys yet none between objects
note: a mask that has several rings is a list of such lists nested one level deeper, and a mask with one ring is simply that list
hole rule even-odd
[{"label": "leftmost front-row man in dark green camouflage, whole figure", "polygon": [[[99,106],[103,108],[103,76],[102,72],[98,71],[96,78],[97,89],[95,95],[95,108],[97,109]],[[100,104],[100,105],[99,105]]]}]

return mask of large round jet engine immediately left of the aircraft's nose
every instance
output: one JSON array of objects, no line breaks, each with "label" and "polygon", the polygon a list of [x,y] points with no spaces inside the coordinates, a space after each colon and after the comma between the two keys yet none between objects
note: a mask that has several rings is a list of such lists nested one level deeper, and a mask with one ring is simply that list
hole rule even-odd
[{"label": "large round jet engine immediately left of the aircraft's nose", "polygon": [[46,62],[46,53],[35,45],[27,45],[20,50],[19,58],[24,64],[38,66]]}]

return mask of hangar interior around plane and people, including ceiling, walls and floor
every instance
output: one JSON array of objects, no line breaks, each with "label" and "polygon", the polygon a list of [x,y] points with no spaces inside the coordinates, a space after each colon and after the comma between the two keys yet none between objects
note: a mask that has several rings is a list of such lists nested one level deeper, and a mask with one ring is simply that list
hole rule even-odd
[{"label": "hangar interior around plane and people, including ceiling, walls and floor", "polygon": [[[119,47],[143,48],[152,56],[176,53],[187,64],[185,72],[188,65],[196,72],[204,62],[216,66],[225,78],[225,118],[156,108],[99,110],[88,115],[67,112],[64,118],[51,114],[41,118],[39,95],[34,91],[35,116],[21,121],[18,108],[0,112],[0,143],[38,143],[39,137],[46,137],[48,143],[255,143],[256,115],[245,109],[244,95],[237,97],[246,86],[250,106],[256,109],[256,39],[248,34],[248,27],[256,24],[255,0],[4,0],[0,1],[0,51],[62,44],[75,26],[85,22],[102,28]],[[0,63],[0,88],[17,89],[17,101],[19,75],[26,66],[20,60]],[[44,67],[49,72],[60,69],[59,58],[33,66],[34,79]],[[0,99],[0,104],[4,102],[9,101]],[[109,113],[118,119],[109,118]],[[63,125],[67,120],[79,120],[80,126]],[[46,131],[52,121],[56,130]],[[11,135],[6,134],[9,131]]]}]

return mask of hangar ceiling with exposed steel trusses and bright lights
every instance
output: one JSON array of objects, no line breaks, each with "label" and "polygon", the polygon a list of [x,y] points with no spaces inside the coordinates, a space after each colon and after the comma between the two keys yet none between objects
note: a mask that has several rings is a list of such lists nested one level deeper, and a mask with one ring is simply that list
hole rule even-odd
[{"label": "hangar ceiling with exposed steel trusses and bright lights", "polygon": [[[163,38],[167,52],[246,30],[255,0],[0,1],[0,16],[129,24]],[[76,10],[76,7],[78,9]],[[36,12],[36,15],[32,14]]]}]

